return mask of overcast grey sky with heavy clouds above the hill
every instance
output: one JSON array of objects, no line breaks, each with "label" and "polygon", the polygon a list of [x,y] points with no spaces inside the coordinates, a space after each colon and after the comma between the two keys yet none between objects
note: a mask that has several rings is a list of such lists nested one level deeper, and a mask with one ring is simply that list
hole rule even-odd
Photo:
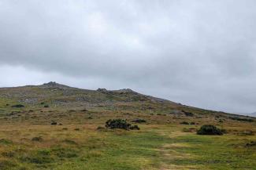
[{"label": "overcast grey sky with heavy clouds above the hill", "polygon": [[256,111],[254,0],[0,0],[0,87],[48,81]]}]

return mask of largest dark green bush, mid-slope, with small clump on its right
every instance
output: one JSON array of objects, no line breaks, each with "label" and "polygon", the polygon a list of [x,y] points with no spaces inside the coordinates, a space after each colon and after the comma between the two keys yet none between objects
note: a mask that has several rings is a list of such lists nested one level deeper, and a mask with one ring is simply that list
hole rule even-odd
[{"label": "largest dark green bush, mid-slope, with small clump on its right", "polygon": [[106,121],[106,128],[121,128],[121,129],[125,129],[125,130],[139,130],[139,127],[137,125],[132,126],[131,124],[129,124],[126,120],[123,119],[109,119],[108,121]]}]

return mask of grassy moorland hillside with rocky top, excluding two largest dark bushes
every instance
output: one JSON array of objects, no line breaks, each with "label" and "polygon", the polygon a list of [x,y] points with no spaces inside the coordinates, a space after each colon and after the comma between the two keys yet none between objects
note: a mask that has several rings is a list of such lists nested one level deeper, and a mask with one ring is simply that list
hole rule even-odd
[{"label": "grassy moorland hillside with rocky top, excluding two largest dark bushes", "polygon": [[[140,130],[104,128],[115,118]],[[224,136],[196,135],[202,125],[223,128]],[[256,167],[256,118],[131,89],[87,90],[55,82],[1,88],[0,126],[0,169]]]}]

